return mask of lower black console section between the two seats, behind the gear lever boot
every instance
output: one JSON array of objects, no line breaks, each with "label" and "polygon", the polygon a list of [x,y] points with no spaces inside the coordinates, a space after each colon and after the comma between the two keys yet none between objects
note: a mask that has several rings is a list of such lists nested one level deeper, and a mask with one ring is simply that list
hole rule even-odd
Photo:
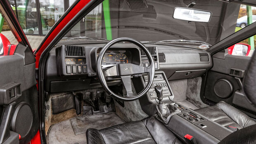
[{"label": "lower black console section between the two seats, behind the gear lever boot", "polygon": [[217,144],[232,133],[226,127],[200,115],[192,109],[187,109],[177,103],[173,103],[181,110],[180,113],[171,117],[167,127],[180,139],[185,135],[192,135],[197,144]]}]

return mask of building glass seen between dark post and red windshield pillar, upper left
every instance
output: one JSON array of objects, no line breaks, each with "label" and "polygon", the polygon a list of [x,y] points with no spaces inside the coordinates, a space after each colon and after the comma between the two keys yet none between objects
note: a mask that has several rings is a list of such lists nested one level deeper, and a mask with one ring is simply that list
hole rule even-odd
[{"label": "building glass seen between dark post and red windshield pillar, upper left", "polygon": [[42,21],[42,32],[46,35],[52,26],[64,14],[63,0],[39,0]]}]

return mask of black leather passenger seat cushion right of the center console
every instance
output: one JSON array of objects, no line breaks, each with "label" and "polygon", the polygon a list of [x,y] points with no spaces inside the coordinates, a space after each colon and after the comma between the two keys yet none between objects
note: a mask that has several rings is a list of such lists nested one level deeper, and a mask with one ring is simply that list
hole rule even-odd
[{"label": "black leather passenger seat cushion right of the center console", "polygon": [[232,126],[241,129],[256,124],[254,119],[225,102],[195,111],[225,127]]}]

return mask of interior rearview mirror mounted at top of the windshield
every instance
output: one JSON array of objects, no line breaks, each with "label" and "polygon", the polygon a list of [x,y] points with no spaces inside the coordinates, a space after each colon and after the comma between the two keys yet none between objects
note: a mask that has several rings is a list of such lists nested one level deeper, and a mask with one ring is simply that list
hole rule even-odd
[{"label": "interior rearview mirror mounted at top of the windshield", "polygon": [[211,20],[211,12],[200,9],[175,7],[173,19],[208,23]]}]

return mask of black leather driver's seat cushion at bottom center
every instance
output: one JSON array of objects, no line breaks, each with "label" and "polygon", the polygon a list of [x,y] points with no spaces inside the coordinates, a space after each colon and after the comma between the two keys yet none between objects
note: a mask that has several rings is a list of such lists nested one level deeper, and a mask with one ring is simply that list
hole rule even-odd
[{"label": "black leather driver's seat cushion at bottom center", "polygon": [[159,120],[148,117],[102,130],[86,131],[88,144],[181,144]]}]

